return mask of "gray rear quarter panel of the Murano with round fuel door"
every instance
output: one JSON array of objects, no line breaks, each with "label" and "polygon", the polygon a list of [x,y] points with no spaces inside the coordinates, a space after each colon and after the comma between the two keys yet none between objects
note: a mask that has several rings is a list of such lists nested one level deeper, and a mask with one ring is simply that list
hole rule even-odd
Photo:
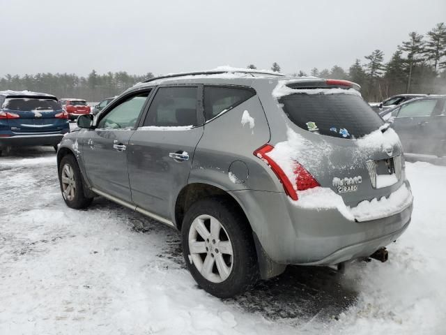
[{"label": "gray rear quarter panel of the Murano with round fuel door", "polygon": [[[254,119],[253,128],[242,123],[245,111]],[[253,96],[205,124],[189,183],[210,184],[225,191],[279,191],[266,163],[253,154],[269,140],[270,129],[263,107],[259,97]],[[233,174],[231,177],[229,172]]]}]

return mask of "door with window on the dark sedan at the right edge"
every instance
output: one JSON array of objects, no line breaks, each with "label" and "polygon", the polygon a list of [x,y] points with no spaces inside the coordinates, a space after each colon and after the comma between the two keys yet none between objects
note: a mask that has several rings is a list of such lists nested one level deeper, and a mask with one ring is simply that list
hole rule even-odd
[{"label": "door with window on the dark sedan at the right edge", "polygon": [[[397,131],[403,149],[416,154],[431,153],[429,129],[436,128],[431,116],[435,114],[438,99],[423,99],[401,105],[392,127]],[[430,139],[430,140],[429,140]]]}]

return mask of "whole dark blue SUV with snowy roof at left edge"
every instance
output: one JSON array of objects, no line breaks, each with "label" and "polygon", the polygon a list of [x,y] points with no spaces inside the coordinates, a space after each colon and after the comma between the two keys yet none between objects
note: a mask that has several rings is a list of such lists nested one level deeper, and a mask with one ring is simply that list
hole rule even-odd
[{"label": "whole dark blue SUV with snowy roof at left edge", "polygon": [[10,147],[52,145],[70,132],[68,114],[55,96],[0,91],[0,155]]}]

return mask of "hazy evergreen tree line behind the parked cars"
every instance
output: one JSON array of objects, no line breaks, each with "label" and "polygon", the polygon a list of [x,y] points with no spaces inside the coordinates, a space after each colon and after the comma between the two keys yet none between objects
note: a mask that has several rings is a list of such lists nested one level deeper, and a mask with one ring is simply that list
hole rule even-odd
[{"label": "hazy evergreen tree line behind the parked cars", "polygon": [[[255,69],[256,66],[249,64],[247,68]],[[275,62],[271,70],[280,72],[281,69]],[[374,50],[364,59],[356,59],[348,70],[335,65],[330,70],[312,68],[309,74],[356,82],[361,85],[362,96],[367,101],[382,101],[403,93],[446,94],[446,25],[444,22],[438,23],[425,35],[411,32],[387,62],[384,61],[383,51]],[[300,70],[293,75],[302,77],[307,73]],[[28,89],[51,93],[58,98],[100,101],[121,94],[137,82],[151,77],[153,73],[129,75],[121,71],[100,75],[95,70],[87,77],[73,73],[8,74],[0,79],[0,90]]]}]

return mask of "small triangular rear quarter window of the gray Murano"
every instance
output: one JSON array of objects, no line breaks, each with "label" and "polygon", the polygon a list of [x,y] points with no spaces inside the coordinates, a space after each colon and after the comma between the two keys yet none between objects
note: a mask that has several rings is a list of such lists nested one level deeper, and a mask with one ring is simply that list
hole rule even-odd
[{"label": "small triangular rear quarter window of the gray Murano", "polygon": [[204,116],[206,121],[213,119],[221,112],[240,105],[255,96],[251,89],[235,87],[204,87]]}]

